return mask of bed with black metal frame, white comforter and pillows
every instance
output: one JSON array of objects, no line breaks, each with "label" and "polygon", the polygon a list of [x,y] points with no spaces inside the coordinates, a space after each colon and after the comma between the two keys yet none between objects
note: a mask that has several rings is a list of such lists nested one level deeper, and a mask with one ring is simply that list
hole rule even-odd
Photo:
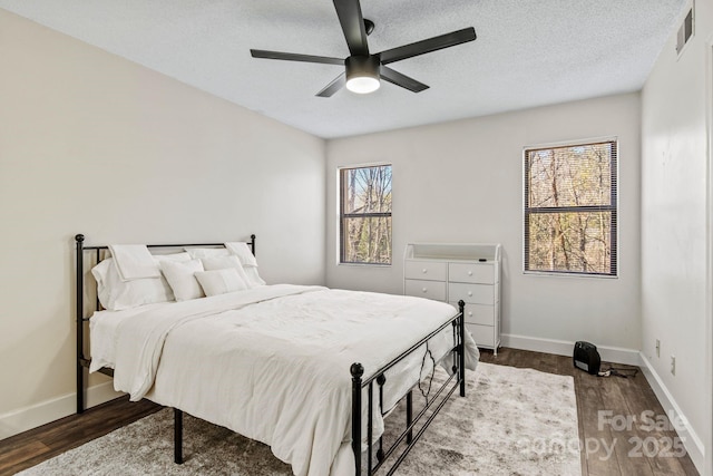
[{"label": "bed with black metal frame, white comforter and pillows", "polygon": [[[85,280],[107,280],[97,270],[109,269],[109,245],[85,245],[84,235],[77,235],[76,247],[77,411],[85,409],[87,369],[113,376],[115,389],[131,400],[148,398],[174,408],[176,463],[183,462],[186,411],[270,445],[295,475],[371,475],[390,457],[391,474],[448,398],[457,389],[465,396],[466,368],[477,363],[462,303],[457,311],[420,298],[264,284],[252,265],[255,235],[246,243],[251,256],[241,256],[238,266],[247,286],[208,293],[212,284],[203,279],[217,270],[195,272],[207,297],[186,294],[178,282],[174,300],[128,307],[115,302],[108,310],[101,309],[107,302],[101,285],[92,292]],[[178,250],[158,254],[160,260],[154,256],[162,262],[186,252],[192,258],[208,253],[198,259],[207,265],[209,250],[224,256],[229,246],[147,247]],[[160,279],[168,279],[175,266],[162,264]],[[186,295],[191,299],[180,299]],[[85,305],[92,300],[92,307]],[[413,389],[429,380],[437,365],[450,377],[428,394],[428,405],[414,416]],[[402,399],[403,431],[384,447],[384,418]]]}]

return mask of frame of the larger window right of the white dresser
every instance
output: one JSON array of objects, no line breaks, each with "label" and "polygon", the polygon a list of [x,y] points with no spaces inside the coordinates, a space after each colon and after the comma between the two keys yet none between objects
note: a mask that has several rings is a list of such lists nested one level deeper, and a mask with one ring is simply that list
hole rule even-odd
[{"label": "frame of the larger window right of the white dresser", "polygon": [[[559,206],[559,207],[529,207],[529,153],[537,150],[547,150],[556,148],[586,147],[597,144],[612,144],[613,153],[611,157],[611,191],[608,205],[583,205],[583,206]],[[619,275],[619,252],[618,252],[618,212],[619,212],[619,187],[618,187],[618,164],[619,164],[619,142],[618,137],[598,137],[582,140],[570,140],[555,144],[540,144],[522,148],[522,273],[533,275],[555,275],[555,276],[575,276],[575,278],[602,278],[617,279]],[[592,213],[592,212],[611,212],[609,222],[609,272],[587,272],[572,270],[531,270],[529,269],[529,216],[538,213]]]}]

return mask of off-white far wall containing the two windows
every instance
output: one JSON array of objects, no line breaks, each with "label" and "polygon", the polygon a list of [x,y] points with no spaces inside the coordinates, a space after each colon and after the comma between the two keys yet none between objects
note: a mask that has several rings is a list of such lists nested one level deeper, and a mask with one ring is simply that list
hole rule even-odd
[{"label": "off-white far wall containing the two windows", "polygon": [[[639,107],[639,95],[627,94],[328,142],[328,285],[401,293],[408,242],[499,242],[510,342],[569,353],[574,341],[589,340],[637,351]],[[522,148],[606,136],[619,140],[619,278],[525,275]],[[370,162],[393,164],[393,264],[339,265],[336,169]]]}]

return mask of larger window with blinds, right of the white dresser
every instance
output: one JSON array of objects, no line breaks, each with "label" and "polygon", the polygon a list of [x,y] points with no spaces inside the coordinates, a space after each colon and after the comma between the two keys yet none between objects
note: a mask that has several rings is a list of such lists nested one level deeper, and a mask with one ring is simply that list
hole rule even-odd
[{"label": "larger window with blinds, right of the white dresser", "polygon": [[615,276],[615,140],[525,150],[525,271]]}]

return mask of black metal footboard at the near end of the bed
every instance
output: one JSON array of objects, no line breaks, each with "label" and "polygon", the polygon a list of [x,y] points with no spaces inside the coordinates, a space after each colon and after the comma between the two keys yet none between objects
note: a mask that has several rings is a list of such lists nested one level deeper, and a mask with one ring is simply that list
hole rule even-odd
[{"label": "black metal footboard at the near end of the bed", "polygon": [[[448,322],[443,323],[441,327],[436,329],[433,332],[426,336],[423,339],[414,343],[411,348],[406,350],[399,357],[393,359],[391,362],[387,363],[384,367],[374,372],[370,378],[362,379],[364,375],[364,367],[354,362],[351,366],[351,375],[352,375],[352,450],[354,451],[354,464],[355,470],[354,474],[356,476],[361,476],[362,474],[362,451],[361,451],[361,441],[362,441],[362,392],[367,389],[368,394],[368,421],[367,421],[367,475],[371,476],[375,472],[378,472],[382,465],[385,463],[387,458],[389,458],[394,451],[397,451],[402,443],[406,440],[406,446],[402,447],[401,453],[397,457],[393,465],[391,465],[387,475],[391,475],[399,467],[401,462],[407,457],[413,445],[418,441],[418,439],[423,435],[423,431],[431,424],[433,418],[438,415],[440,409],[443,407],[446,401],[450,398],[450,396],[456,391],[456,388],[460,388],[460,396],[466,396],[466,352],[465,352],[465,333],[466,333],[466,324],[463,318],[463,308],[466,303],[463,301],[458,302],[459,312],[453,315]],[[447,327],[452,326],[453,328],[453,342],[455,346],[450,350],[453,356],[453,366],[452,373],[450,377],[443,382],[443,385],[434,392],[430,401],[427,400],[426,406],[421,409],[421,411],[413,418],[413,396],[412,388],[404,396],[406,398],[406,429],[397,436],[395,440],[391,444],[391,446],[387,449],[383,448],[383,439],[379,438],[378,445],[379,448],[377,450],[377,462],[373,460],[373,410],[374,410],[374,382],[379,386],[379,409],[381,414],[384,414],[384,409],[382,406],[383,402],[383,386],[387,381],[385,372],[401,360],[410,356],[413,351],[416,351],[421,346],[426,344],[432,337],[441,332]],[[445,395],[442,395],[445,394]],[[427,417],[427,412],[429,410],[432,411]],[[389,410],[389,409],[387,409]],[[426,418],[423,425],[420,429],[413,434],[416,426]]]}]

